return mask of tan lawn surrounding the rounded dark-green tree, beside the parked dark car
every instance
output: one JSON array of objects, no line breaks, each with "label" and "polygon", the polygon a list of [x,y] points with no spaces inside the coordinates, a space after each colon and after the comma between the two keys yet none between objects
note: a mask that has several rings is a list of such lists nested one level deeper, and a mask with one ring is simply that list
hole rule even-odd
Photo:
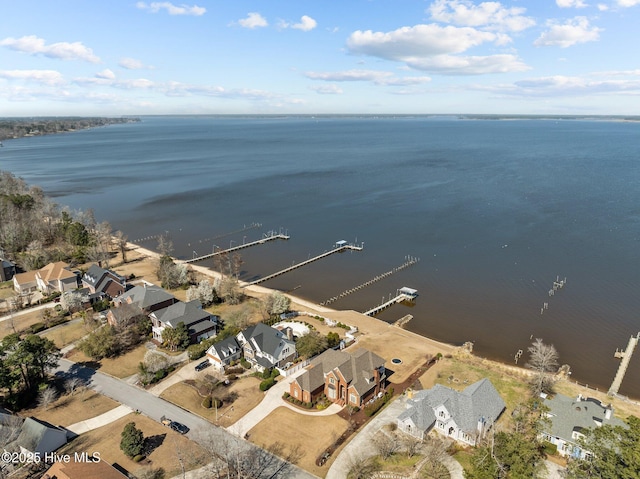
[{"label": "tan lawn surrounding the rounded dark-green tree, beside the parked dark car", "polygon": [[[129,459],[120,450],[122,430],[132,421],[136,423],[138,429],[142,430],[145,439],[150,440],[149,442],[155,446],[147,458],[139,463]],[[101,460],[109,464],[118,463],[133,474],[140,473],[149,467],[163,468],[165,477],[174,477],[182,473],[180,459],[187,471],[209,462],[207,453],[196,443],[139,414],[129,414],[111,424],[81,434],[58,453],[73,454],[76,451],[86,451],[89,454],[99,452]]]}]

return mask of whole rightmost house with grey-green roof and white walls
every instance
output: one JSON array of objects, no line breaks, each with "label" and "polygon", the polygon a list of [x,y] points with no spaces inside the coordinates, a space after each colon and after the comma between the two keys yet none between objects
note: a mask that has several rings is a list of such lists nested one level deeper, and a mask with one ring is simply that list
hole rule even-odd
[{"label": "whole rightmost house with grey-green roof and white walls", "polygon": [[580,459],[588,456],[589,451],[579,445],[586,429],[603,425],[626,427],[623,421],[613,416],[611,405],[605,406],[597,399],[585,398],[581,394],[575,398],[562,394],[543,397],[544,405],[549,408],[546,413],[549,426],[542,433],[542,438],[555,444],[562,456]]}]

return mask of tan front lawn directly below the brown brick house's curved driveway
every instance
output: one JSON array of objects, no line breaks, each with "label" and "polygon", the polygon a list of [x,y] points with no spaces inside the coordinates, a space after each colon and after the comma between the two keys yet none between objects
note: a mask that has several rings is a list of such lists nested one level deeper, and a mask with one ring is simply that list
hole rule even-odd
[{"label": "tan front lawn directly below the brown brick house's curved driveway", "polygon": [[[277,440],[285,446],[287,453],[298,447],[303,456],[297,465],[324,477],[329,464],[316,466],[316,459],[348,426],[347,421],[336,415],[314,417],[279,407],[249,431],[249,438],[261,447],[267,447]],[[275,430],[278,431],[277,435]]]}]

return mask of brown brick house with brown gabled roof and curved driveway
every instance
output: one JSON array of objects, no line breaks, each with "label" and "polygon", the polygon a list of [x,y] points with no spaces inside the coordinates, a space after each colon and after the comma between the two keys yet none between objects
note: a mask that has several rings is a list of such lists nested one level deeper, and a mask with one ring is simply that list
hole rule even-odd
[{"label": "brown brick house with brown gabled roof and curved driveway", "polygon": [[291,383],[289,394],[302,402],[314,402],[324,394],[342,406],[361,407],[384,390],[384,362],[367,349],[353,354],[328,349]]}]

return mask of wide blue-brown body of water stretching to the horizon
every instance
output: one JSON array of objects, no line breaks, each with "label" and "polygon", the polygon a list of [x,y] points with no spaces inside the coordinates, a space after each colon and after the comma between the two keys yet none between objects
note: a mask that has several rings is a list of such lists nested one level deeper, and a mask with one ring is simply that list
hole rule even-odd
[{"label": "wide blue-brown body of water stretching to the horizon", "polygon": [[[364,242],[266,283],[317,302],[419,257],[332,307],[412,287],[415,306],[380,318],[509,363],[539,337],[608,388],[640,330],[639,155],[634,122],[148,117],[5,141],[0,169],[131,240],[168,231],[183,258],[286,230],[243,251],[245,280]],[[620,392],[640,397],[640,350]]]}]

